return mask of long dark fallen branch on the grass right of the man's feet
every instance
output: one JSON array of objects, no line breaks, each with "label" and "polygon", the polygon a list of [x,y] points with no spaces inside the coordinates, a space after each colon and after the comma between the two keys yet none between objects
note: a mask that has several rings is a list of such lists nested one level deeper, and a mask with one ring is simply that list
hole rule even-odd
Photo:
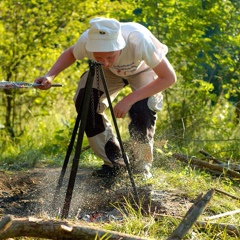
[{"label": "long dark fallen branch on the grass right of the man's feet", "polygon": [[240,173],[238,173],[236,171],[230,170],[230,169],[225,168],[225,167],[213,165],[213,164],[210,164],[208,162],[201,161],[201,160],[199,160],[195,157],[190,157],[189,158],[189,157],[187,157],[183,154],[180,154],[180,153],[174,153],[173,157],[182,161],[182,162],[185,162],[185,163],[190,163],[190,164],[193,164],[193,165],[201,166],[203,168],[208,168],[208,169],[212,169],[212,170],[215,170],[215,171],[219,171],[219,172],[225,173],[228,176],[240,179]]}]

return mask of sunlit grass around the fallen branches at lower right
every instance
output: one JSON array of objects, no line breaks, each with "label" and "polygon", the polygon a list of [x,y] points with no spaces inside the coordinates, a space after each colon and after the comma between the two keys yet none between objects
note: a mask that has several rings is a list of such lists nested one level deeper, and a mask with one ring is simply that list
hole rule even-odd
[{"label": "sunlit grass around the fallen branches at lower right", "polygon": [[[174,161],[173,159],[171,160]],[[239,197],[239,187],[237,186],[237,183],[233,183],[230,179],[224,177],[213,177],[204,171],[190,169],[189,166],[185,167],[180,163],[176,163],[175,169],[171,171],[164,170],[163,168],[155,168],[154,176],[153,180],[148,181],[148,183],[152,184],[154,189],[172,191],[176,189],[177,191],[183,192],[184,197],[187,199],[195,199],[200,193],[205,194],[211,188],[218,188]],[[199,220],[204,220],[204,217],[206,216],[233,211],[239,208],[239,200],[215,192],[207,208],[200,215]],[[180,211],[182,212],[182,216],[187,212],[184,208],[180,209]],[[181,219],[175,218],[174,216],[161,217],[156,221],[156,216],[153,212],[145,212],[142,214],[141,206],[139,206],[139,209],[135,209],[127,200],[123,216],[123,222],[112,222],[111,224],[106,224],[105,228],[111,230],[116,229],[120,232],[149,237],[152,239],[166,239],[181,222]],[[211,222],[240,226],[240,216],[239,214],[236,214],[212,220]],[[214,229],[214,227],[208,225],[204,229],[193,226],[184,239],[228,240],[239,238],[234,235],[230,236],[224,229]]]}]

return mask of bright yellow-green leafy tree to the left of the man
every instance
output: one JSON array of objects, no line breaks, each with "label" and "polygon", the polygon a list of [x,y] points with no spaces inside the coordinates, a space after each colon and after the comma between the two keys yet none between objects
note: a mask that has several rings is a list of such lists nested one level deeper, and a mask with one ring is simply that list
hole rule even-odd
[{"label": "bright yellow-green leafy tree to the left of the man", "polygon": [[[0,78],[5,81],[33,82],[45,74],[57,56],[77,41],[94,16],[117,16],[114,9],[130,9],[119,1],[39,0],[0,3]],[[127,12],[124,10],[122,12]],[[77,79],[86,69],[84,61],[61,74],[61,90],[40,91],[4,90],[0,123],[12,138],[21,136],[24,124],[37,115],[49,114],[59,99],[71,101]],[[60,79],[60,78],[59,78]],[[49,93],[48,92],[48,93]],[[47,95],[47,96],[46,96]],[[34,107],[33,107],[34,106]]]}]

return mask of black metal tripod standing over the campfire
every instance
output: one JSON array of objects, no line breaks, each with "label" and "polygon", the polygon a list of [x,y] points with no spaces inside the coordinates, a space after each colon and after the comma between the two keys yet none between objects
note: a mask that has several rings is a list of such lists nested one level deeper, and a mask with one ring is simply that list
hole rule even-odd
[{"label": "black metal tripod standing over the campfire", "polygon": [[116,121],[116,118],[115,118],[114,113],[113,113],[113,107],[112,107],[111,99],[110,99],[110,96],[109,96],[106,79],[105,79],[105,76],[104,76],[104,73],[103,73],[103,70],[102,70],[102,66],[101,66],[100,63],[90,61],[89,62],[89,68],[90,68],[90,70],[89,70],[89,74],[88,74],[88,78],[87,78],[87,82],[86,82],[86,86],[85,86],[85,90],[84,90],[83,101],[81,102],[81,106],[79,106],[80,108],[79,108],[78,115],[77,115],[77,118],[76,118],[76,121],[75,121],[72,137],[71,137],[70,143],[68,145],[68,149],[67,149],[67,152],[66,152],[66,156],[65,156],[65,159],[64,159],[61,174],[60,174],[60,177],[59,177],[59,180],[58,180],[58,184],[57,184],[54,199],[53,199],[53,207],[55,208],[55,203],[56,203],[56,201],[59,197],[59,192],[60,192],[60,189],[62,187],[64,175],[66,173],[67,165],[69,163],[69,158],[70,158],[70,155],[72,153],[72,149],[73,149],[73,146],[74,146],[74,143],[75,143],[76,136],[78,135],[77,136],[77,142],[76,142],[76,151],[75,151],[75,155],[74,155],[73,161],[72,161],[70,177],[69,177],[69,181],[68,181],[65,201],[64,201],[63,210],[62,210],[62,218],[67,218],[68,217],[68,213],[69,213],[69,209],[70,209],[70,204],[71,204],[71,200],[72,200],[72,194],[73,194],[75,179],[76,179],[76,175],[77,175],[77,171],[78,171],[79,159],[80,159],[80,155],[81,155],[81,151],[82,151],[83,136],[84,136],[84,131],[85,131],[86,122],[87,122],[87,114],[84,114],[84,113],[88,112],[88,108],[89,108],[89,104],[90,104],[90,97],[91,97],[91,89],[92,89],[92,85],[93,85],[95,70],[97,70],[97,71],[99,70],[101,79],[103,81],[104,91],[105,91],[105,94],[106,94],[106,97],[107,97],[107,100],[108,100],[108,103],[109,103],[109,108],[110,108],[110,112],[111,112],[111,115],[112,115],[112,120],[113,120],[113,123],[114,123],[117,138],[118,138],[118,141],[119,141],[120,149],[122,151],[123,160],[124,160],[124,163],[126,165],[128,175],[129,175],[132,187],[133,187],[135,201],[136,201],[136,203],[139,203],[139,197],[138,197],[136,185],[135,185],[135,182],[134,182],[134,179],[133,179],[133,176],[132,176],[132,172],[131,172],[131,169],[130,169],[130,166],[129,166],[127,155],[124,151],[123,143],[122,143],[121,136],[120,136],[120,133],[119,133],[119,129],[118,129],[118,126],[117,126],[117,121]]}]

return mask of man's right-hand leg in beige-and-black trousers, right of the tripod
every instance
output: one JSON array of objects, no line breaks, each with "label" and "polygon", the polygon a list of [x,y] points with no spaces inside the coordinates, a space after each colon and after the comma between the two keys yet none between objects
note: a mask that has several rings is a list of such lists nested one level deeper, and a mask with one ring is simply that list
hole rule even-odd
[{"label": "man's right-hand leg in beige-and-black trousers, right of the tripod", "polygon": [[[130,77],[128,81],[132,90],[135,91],[154,81],[155,78],[156,74],[148,69]],[[156,109],[160,110],[161,106],[162,98],[152,96],[136,102],[129,111],[131,119],[129,133],[133,153],[133,159],[130,160],[131,165],[133,170],[142,173],[146,178],[151,177],[150,168],[153,161],[153,143],[157,120]]]}]

